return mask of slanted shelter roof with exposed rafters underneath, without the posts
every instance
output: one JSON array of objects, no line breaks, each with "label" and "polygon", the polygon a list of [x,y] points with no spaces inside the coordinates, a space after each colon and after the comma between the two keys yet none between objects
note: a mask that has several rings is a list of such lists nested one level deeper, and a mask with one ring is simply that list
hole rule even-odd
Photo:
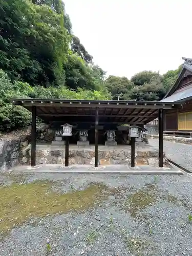
[{"label": "slanted shelter roof with exposed rafters underneath, without the posts", "polygon": [[11,99],[45,122],[95,124],[96,108],[99,124],[146,124],[158,117],[158,110],[180,108],[182,102],[124,101],[124,100],[62,100],[62,99]]}]

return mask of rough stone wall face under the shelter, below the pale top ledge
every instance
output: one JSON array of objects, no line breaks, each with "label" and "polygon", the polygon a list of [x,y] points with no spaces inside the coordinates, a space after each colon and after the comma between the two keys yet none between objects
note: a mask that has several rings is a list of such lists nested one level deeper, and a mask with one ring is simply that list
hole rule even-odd
[{"label": "rough stone wall face under the shelter, below the pale top ledge", "polygon": [[[23,150],[20,157],[20,163],[30,164],[31,150],[30,146]],[[91,164],[95,163],[95,152],[91,150],[70,150],[69,165],[72,164]],[[131,164],[131,150],[99,150],[98,160],[100,165],[109,164]],[[65,164],[65,150],[36,150],[36,164]],[[135,152],[136,165],[158,166],[158,151],[138,151]],[[168,162],[164,156],[164,164]]]}]

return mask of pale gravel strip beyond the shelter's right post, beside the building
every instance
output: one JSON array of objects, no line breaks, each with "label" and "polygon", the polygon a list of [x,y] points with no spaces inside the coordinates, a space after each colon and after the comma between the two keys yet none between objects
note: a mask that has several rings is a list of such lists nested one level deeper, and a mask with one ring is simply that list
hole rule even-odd
[{"label": "pale gravel strip beyond the shelter's right post, beside the building", "polygon": [[[150,145],[158,147],[158,139],[151,139]],[[192,145],[164,140],[163,147],[166,157],[192,171]]]}]

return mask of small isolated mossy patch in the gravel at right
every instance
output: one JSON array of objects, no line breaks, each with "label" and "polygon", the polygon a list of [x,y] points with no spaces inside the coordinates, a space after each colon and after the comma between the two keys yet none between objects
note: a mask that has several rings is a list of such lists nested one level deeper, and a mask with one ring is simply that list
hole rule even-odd
[{"label": "small isolated mossy patch in the gravel at right", "polygon": [[127,197],[124,203],[125,209],[135,218],[138,211],[153,205],[157,201],[156,192],[156,187],[153,184],[148,184]]}]

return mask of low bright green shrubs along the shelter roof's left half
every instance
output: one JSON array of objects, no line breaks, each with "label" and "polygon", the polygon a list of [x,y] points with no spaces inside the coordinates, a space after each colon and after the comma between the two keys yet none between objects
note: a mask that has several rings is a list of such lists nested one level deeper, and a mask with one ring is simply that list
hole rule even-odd
[{"label": "low bright green shrubs along the shelter roof's left half", "polygon": [[76,91],[62,86],[58,88],[31,87],[26,82],[11,83],[8,75],[0,70],[0,131],[9,132],[31,123],[31,112],[22,106],[14,106],[10,98],[48,99],[110,99],[108,91],[91,91],[78,88]]}]

